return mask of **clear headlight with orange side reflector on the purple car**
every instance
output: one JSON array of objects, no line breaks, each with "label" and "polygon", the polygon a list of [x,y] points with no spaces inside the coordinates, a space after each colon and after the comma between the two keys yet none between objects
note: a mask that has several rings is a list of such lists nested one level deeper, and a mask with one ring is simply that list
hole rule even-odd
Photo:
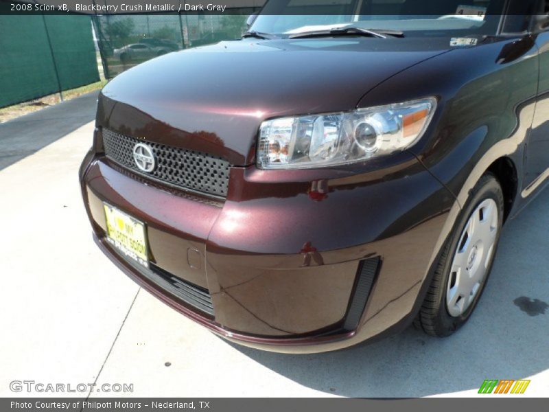
[{"label": "clear headlight with orange side reflector on the purple car", "polygon": [[259,129],[261,169],[323,168],[405,150],[425,132],[436,100],[268,120]]}]

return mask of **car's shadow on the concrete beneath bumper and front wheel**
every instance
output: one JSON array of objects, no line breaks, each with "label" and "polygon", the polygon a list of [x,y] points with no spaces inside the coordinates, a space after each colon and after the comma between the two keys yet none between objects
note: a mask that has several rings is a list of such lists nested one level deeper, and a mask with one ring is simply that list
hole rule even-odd
[{"label": "car's shadow on the concrete beneath bumper and front wheel", "polygon": [[532,376],[549,368],[548,228],[545,190],[506,223],[482,299],[454,336],[436,339],[410,327],[371,345],[309,355],[231,345],[305,387],[339,396],[430,396]]}]

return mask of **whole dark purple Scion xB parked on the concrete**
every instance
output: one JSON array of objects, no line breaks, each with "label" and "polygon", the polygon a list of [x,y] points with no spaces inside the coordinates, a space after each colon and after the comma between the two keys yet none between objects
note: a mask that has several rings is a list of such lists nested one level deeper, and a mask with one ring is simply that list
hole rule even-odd
[{"label": "whole dark purple Scion xB parked on the concrete", "polygon": [[548,2],[318,3],[271,0],[242,40],[103,89],[80,170],[95,239],[245,345],[447,336],[548,181]]}]

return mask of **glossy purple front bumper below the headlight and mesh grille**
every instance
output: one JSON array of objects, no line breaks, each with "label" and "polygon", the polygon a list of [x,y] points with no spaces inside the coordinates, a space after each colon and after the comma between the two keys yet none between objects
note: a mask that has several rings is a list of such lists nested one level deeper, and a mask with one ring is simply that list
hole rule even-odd
[{"label": "glossy purple front bumper below the headlight and mesh grille", "polygon": [[[454,199],[411,155],[397,163],[298,181],[232,168],[225,201],[148,181],[94,151],[80,180],[97,244],[150,293],[226,339],[323,352],[406,325],[423,299]],[[154,267],[207,290],[213,314],[106,242],[104,201],[145,222]]]}]

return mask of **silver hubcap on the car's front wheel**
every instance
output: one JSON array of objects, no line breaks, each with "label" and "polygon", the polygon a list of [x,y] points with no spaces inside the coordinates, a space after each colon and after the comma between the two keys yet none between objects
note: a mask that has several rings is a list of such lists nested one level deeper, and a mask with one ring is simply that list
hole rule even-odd
[{"label": "silver hubcap on the car's front wheel", "polygon": [[448,313],[458,317],[474,301],[488,272],[498,234],[498,205],[480,203],[461,233],[446,290]]}]

